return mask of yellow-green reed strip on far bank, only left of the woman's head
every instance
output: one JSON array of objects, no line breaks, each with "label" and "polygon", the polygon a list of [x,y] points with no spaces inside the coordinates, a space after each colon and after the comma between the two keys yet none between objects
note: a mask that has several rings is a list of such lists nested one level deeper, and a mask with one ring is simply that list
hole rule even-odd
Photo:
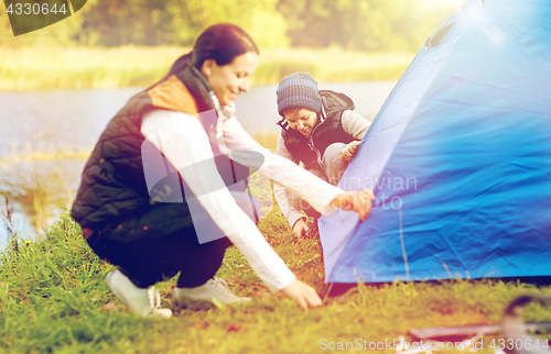
[{"label": "yellow-green reed strip on far bank, only left of the woman's head", "polygon": [[[149,86],[162,78],[186,48],[2,48],[0,90]],[[35,58],[41,60],[36,62]]]}]

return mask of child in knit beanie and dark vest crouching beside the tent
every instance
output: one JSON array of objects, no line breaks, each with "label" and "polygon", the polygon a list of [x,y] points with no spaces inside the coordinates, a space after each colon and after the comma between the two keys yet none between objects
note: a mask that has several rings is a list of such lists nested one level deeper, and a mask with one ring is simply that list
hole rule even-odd
[{"label": "child in knit beanie and dark vest crouching beside the tent", "polygon": [[[285,76],[277,96],[282,119],[278,122],[281,132],[276,153],[295,164],[302,162],[312,174],[336,186],[356,155],[369,121],[353,111],[354,102],[348,96],[318,90],[309,73]],[[310,228],[301,210],[314,220],[320,213],[282,186],[274,185],[273,192],[295,236],[306,235]]]}]

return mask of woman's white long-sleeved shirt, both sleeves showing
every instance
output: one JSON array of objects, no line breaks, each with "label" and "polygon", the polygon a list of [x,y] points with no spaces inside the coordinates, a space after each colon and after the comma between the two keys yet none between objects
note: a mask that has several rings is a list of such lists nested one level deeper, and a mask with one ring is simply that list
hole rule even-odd
[{"label": "woman's white long-sleeved shirt, both sleeves showing", "polygon": [[[220,124],[220,123],[219,123]],[[309,201],[317,211],[328,214],[334,210],[333,199],[343,190],[331,186],[292,162],[278,156],[258,144],[235,117],[226,119],[219,129],[229,151],[257,152],[264,162],[258,169],[274,182],[285,186]],[[217,226],[241,251],[260,279],[272,290],[288,287],[294,275],[271,248],[255,223],[237,206],[227,188],[218,189],[218,174],[205,176],[205,170],[216,170],[207,133],[197,118],[176,111],[154,110],[142,119],[141,133],[161,151],[180,172],[201,206]],[[255,166],[248,154],[231,154],[237,163]],[[204,162],[203,164],[197,164]],[[205,164],[212,164],[205,168]],[[206,192],[215,190],[212,192]]]}]

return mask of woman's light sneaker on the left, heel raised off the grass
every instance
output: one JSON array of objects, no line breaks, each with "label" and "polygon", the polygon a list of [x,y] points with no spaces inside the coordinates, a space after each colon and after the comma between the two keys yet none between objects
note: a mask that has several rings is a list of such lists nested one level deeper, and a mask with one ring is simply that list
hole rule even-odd
[{"label": "woman's light sneaker on the left, heel raised off the grass", "polygon": [[106,281],[119,300],[128,306],[130,312],[147,318],[170,319],[172,317],[171,309],[159,308],[161,306],[161,296],[159,295],[159,290],[153,288],[142,289],[137,287],[118,269],[109,273]]}]

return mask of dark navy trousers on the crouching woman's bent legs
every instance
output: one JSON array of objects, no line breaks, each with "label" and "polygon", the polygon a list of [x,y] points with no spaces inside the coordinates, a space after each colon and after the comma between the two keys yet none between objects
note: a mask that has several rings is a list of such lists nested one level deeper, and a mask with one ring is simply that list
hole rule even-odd
[{"label": "dark navy trousers on the crouching woman's bent legs", "polygon": [[[258,202],[247,193],[231,193],[239,207],[258,222]],[[161,203],[139,218],[95,232],[88,243],[101,258],[118,265],[138,287],[170,279],[179,272],[179,287],[197,287],[216,274],[231,242],[206,212],[201,218],[194,217],[195,222],[212,223],[209,230],[219,233],[216,240],[199,244],[185,203]]]}]

